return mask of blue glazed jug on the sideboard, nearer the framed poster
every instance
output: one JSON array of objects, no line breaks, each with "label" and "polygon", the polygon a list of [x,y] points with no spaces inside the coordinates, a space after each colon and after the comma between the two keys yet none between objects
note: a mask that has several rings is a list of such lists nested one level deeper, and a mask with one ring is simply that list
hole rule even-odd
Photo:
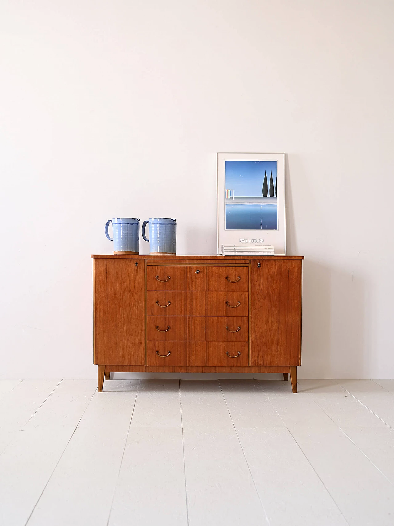
[{"label": "blue glazed jug on the sideboard, nearer the framed poster", "polygon": [[[149,223],[149,239],[145,235],[145,227]],[[150,217],[142,223],[142,237],[149,241],[151,254],[175,255],[177,241],[177,220],[167,217]]]}]

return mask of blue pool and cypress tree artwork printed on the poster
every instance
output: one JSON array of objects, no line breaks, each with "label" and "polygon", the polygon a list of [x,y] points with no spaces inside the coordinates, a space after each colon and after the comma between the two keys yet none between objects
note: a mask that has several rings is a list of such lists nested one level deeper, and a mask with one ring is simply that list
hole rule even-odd
[{"label": "blue pool and cypress tree artwork printed on the poster", "polygon": [[226,230],[277,230],[276,161],[225,161]]}]

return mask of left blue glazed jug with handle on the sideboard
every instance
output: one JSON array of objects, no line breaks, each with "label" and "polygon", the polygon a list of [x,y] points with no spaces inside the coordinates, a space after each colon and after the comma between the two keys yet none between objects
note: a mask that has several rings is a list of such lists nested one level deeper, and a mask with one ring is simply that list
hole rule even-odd
[{"label": "left blue glazed jug with handle on the sideboard", "polygon": [[[113,238],[108,234],[112,223]],[[106,222],[107,239],[113,241],[113,254],[139,254],[140,220],[134,217],[114,217]]]}]

